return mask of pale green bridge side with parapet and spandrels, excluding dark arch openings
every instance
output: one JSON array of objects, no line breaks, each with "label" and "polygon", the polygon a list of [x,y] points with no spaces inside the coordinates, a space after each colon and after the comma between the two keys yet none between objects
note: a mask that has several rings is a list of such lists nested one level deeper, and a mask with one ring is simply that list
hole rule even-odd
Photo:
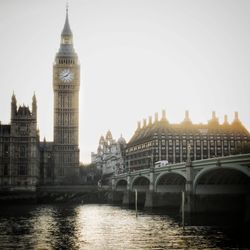
[{"label": "pale green bridge side with parapet and spandrels, excluding dark arch openings", "polygon": [[184,177],[186,180],[186,191],[192,192],[192,189],[195,189],[195,186],[202,175],[213,169],[220,168],[235,169],[250,177],[250,154],[216,157],[205,160],[196,160],[190,163],[181,162],[168,164],[161,167],[154,167],[153,169],[141,169],[115,175],[113,181],[115,186],[120,180],[127,181],[127,190],[132,191],[133,182],[139,177],[144,177],[150,181],[150,190],[156,191],[156,185],[160,178],[172,173]]}]

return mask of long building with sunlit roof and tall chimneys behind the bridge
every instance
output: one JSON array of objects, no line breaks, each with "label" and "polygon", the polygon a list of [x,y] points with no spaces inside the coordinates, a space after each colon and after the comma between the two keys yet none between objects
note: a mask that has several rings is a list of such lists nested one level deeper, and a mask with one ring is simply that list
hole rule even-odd
[{"label": "long building with sunlit roof and tall chimneys behind the bridge", "polygon": [[235,112],[229,124],[227,116],[220,124],[215,112],[207,124],[193,124],[186,111],[180,124],[171,124],[166,118],[146,119],[138,127],[126,147],[126,166],[130,170],[149,168],[155,162],[167,160],[169,163],[184,162],[190,150],[191,160],[201,160],[232,154],[237,148],[250,142],[250,134]]}]

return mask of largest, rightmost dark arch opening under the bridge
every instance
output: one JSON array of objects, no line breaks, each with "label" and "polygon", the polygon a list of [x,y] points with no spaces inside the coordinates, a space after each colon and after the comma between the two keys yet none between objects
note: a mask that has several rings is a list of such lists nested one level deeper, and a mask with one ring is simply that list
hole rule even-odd
[{"label": "largest, rightmost dark arch opening under the bridge", "polygon": [[249,193],[250,173],[240,166],[212,166],[196,175],[193,187],[196,194]]}]

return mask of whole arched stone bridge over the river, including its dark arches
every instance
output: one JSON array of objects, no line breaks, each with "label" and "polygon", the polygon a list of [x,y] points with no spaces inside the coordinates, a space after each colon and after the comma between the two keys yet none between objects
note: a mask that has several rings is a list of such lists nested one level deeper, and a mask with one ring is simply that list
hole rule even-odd
[{"label": "whole arched stone bridge over the river, including its dark arches", "polygon": [[247,211],[250,218],[250,154],[151,167],[114,175],[114,202],[145,207],[180,207],[185,192],[185,211]]}]

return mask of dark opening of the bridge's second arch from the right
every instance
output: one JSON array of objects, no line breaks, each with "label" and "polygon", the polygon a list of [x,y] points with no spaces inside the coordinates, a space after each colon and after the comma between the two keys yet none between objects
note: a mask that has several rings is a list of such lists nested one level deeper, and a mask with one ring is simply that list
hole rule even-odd
[{"label": "dark opening of the bridge's second arch from the right", "polygon": [[160,174],[155,180],[156,192],[179,193],[185,189],[186,177],[176,171]]}]

